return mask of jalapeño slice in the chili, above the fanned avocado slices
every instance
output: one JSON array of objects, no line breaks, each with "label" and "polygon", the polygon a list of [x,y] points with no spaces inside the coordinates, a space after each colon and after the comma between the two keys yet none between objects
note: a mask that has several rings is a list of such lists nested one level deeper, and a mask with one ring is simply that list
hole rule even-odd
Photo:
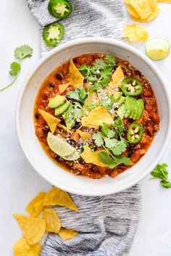
[{"label": "jalape\u00f1o slice in the chili, above the fanned avocado slices", "polygon": [[127,96],[138,96],[143,93],[143,85],[138,79],[125,78],[122,80],[121,90]]}]

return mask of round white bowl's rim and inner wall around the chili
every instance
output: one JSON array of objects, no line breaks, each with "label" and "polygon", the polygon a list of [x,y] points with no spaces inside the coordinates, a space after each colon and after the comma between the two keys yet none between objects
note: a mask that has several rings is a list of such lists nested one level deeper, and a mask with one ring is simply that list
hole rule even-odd
[{"label": "round white bowl's rim and inner wall around the chili", "polygon": [[[128,61],[145,75],[157,97],[160,130],[148,152],[132,168],[116,178],[93,180],[75,176],[59,168],[43,151],[33,126],[33,105],[41,83],[59,64],[80,54],[110,52]],[[43,57],[25,83],[17,104],[17,133],[22,150],[33,168],[54,186],[74,194],[99,196],[114,194],[135,183],[151,172],[157,165],[170,140],[170,101],[164,78],[151,60],[128,44],[109,38],[82,38],[58,46]]]}]

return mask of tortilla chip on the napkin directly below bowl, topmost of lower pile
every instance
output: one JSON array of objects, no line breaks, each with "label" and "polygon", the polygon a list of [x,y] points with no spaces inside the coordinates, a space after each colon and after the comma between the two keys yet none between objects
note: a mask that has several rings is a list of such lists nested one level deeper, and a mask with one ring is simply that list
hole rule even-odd
[{"label": "tortilla chip on the napkin directly below bowl, topmost of lower pile", "polygon": [[43,205],[61,205],[78,212],[78,207],[72,201],[70,195],[61,189],[57,189],[56,187],[53,187],[49,192],[46,193]]}]

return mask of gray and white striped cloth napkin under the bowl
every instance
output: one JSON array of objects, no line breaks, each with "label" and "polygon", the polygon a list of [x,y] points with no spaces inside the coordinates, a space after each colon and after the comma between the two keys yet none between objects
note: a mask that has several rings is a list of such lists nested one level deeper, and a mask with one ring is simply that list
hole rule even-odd
[{"label": "gray and white striped cloth napkin under the bowl", "polygon": [[[43,26],[56,21],[47,10],[48,0],[27,0],[40,24],[41,54],[51,47],[42,40]],[[122,0],[70,0],[73,12],[62,22],[64,39],[103,36],[122,39],[125,11]],[[70,56],[69,56],[70,57]],[[69,58],[68,57],[68,58]],[[138,228],[141,191],[138,185],[105,197],[71,194],[79,212],[56,207],[62,226],[79,231],[74,239],[63,241],[49,234],[41,256],[126,256]]]}]

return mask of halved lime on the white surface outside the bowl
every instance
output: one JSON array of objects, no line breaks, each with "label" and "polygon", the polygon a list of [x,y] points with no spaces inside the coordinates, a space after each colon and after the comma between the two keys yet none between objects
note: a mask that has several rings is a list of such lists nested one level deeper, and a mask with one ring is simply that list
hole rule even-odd
[{"label": "halved lime on the white surface outside the bowl", "polygon": [[165,59],[170,54],[170,44],[162,38],[153,38],[146,43],[146,55],[151,59]]}]

